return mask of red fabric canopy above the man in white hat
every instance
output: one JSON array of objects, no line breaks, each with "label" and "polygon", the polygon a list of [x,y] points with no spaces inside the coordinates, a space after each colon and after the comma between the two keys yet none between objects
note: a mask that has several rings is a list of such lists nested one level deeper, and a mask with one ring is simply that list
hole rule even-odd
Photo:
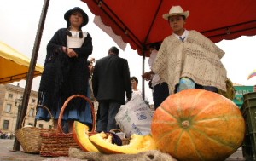
[{"label": "red fabric canopy above the man in white hat", "polygon": [[172,34],[163,14],[172,5],[189,10],[188,30],[196,30],[214,43],[223,39],[256,35],[255,0],[82,0],[106,26],[137,49],[139,55],[150,43],[161,42]]}]

